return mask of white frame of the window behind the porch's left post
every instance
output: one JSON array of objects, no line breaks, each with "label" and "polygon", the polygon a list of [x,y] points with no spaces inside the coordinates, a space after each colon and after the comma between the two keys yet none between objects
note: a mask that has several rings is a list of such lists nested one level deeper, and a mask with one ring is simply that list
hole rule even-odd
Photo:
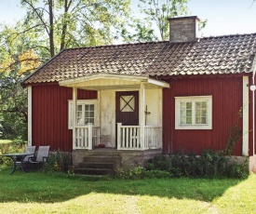
[{"label": "white frame of the window behind the porch's left post", "polygon": [[[99,100],[77,100],[77,105],[90,105],[94,104],[94,126],[100,126],[100,113],[99,113]],[[68,103],[68,129],[73,129],[73,100],[69,100]],[[76,125],[78,127],[83,127],[81,125]],[[85,127],[87,125],[84,125]]]}]

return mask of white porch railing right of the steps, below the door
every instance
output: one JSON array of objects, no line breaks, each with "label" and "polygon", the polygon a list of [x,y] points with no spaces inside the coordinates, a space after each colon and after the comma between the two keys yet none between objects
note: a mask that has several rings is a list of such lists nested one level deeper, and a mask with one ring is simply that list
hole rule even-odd
[{"label": "white porch railing right of the steps, below the door", "polygon": [[117,123],[117,150],[149,150],[161,147],[162,127],[146,126],[143,146],[140,126],[122,126]]}]

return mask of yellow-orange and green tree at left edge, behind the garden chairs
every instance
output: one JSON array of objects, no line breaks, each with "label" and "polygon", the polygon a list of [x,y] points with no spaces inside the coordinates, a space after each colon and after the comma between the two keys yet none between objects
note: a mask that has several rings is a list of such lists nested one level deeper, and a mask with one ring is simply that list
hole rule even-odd
[{"label": "yellow-orange and green tree at left edge, behind the garden chairs", "polygon": [[42,61],[28,49],[34,36],[19,36],[23,31],[18,22],[16,28],[1,26],[0,32],[0,138],[26,140],[27,90],[21,80],[34,71]]}]

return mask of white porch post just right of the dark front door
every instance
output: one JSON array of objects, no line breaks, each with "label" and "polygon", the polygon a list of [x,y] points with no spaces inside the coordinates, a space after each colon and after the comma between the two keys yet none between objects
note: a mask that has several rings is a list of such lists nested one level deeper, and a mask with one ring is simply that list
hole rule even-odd
[{"label": "white porch post just right of the dark front door", "polygon": [[145,85],[141,82],[140,89],[140,141],[141,141],[141,150],[145,149]]}]

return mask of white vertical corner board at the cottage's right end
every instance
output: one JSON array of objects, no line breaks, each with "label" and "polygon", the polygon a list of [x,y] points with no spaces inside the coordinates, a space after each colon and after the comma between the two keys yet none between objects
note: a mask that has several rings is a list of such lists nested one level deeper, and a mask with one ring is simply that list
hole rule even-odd
[{"label": "white vertical corner board at the cottage's right end", "polygon": [[249,78],[243,76],[243,155],[249,155]]}]

